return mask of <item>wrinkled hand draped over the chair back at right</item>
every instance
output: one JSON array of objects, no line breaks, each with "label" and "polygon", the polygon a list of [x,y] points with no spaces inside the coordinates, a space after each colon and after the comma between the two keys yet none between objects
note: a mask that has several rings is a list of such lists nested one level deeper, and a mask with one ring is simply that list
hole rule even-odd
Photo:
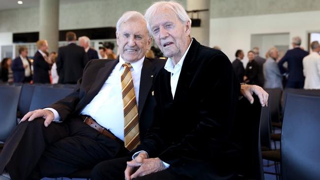
[{"label": "wrinkled hand draped over the chair back at right", "polygon": [[268,97],[269,94],[264,91],[261,87],[256,85],[241,85],[241,94],[245,96],[249,102],[252,104],[254,103],[254,97],[252,96],[253,93],[255,93],[259,100],[262,107],[268,106]]}]

